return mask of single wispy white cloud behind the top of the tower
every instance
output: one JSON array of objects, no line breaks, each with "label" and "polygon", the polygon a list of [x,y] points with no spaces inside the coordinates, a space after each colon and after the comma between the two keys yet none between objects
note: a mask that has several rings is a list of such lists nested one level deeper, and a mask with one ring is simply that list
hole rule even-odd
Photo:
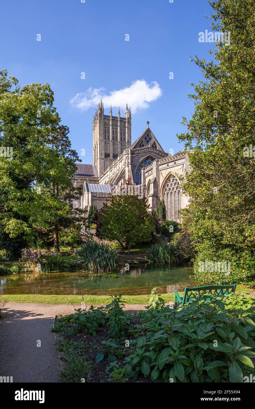
[{"label": "single wispy white cloud behind the top of the tower", "polygon": [[162,95],[160,85],[153,81],[147,83],[145,80],[133,81],[129,87],[121,90],[106,92],[104,88],[88,88],[85,92],[79,92],[70,100],[74,108],[86,111],[90,107],[96,107],[102,97],[104,108],[120,108],[125,110],[126,103],[131,106],[132,113],[140,109],[148,108],[149,103],[155,101]]}]

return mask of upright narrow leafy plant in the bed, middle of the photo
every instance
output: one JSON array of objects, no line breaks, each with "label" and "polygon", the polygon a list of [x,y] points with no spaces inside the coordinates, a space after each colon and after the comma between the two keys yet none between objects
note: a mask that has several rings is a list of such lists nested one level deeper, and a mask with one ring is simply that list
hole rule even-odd
[{"label": "upright narrow leafy plant in the bed, middle of the photo", "polygon": [[106,306],[108,334],[115,339],[125,337],[127,331],[130,330],[131,316],[126,314],[122,308],[125,303],[126,301],[121,299],[121,294],[113,295],[111,303]]}]

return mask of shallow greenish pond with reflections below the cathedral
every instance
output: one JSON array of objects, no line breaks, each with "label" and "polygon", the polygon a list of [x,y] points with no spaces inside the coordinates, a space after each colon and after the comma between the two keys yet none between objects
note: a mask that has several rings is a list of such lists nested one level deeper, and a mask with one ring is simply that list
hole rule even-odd
[{"label": "shallow greenish pond with reflections below the cathedral", "polygon": [[0,276],[4,294],[149,294],[153,287],[161,293],[192,287],[192,267],[134,267],[130,271],[91,274],[88,272],[30,273]]}]

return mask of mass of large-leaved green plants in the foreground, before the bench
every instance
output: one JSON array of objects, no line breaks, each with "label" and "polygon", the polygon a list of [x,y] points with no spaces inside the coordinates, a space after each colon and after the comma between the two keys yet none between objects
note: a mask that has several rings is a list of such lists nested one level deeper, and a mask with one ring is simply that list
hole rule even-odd
[{"label": "mass of large-leaved green plants in the foreground, before the bench", "polygon": [[125,373],[161,382],[243,382],[255,374],[255,299],[229,294],[183,308],[150,308]]}]

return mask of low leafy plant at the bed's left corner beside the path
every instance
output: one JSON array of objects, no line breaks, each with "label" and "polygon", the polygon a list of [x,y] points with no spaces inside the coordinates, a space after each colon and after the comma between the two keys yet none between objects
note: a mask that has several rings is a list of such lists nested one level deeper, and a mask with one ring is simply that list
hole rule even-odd
[{"label": "low leafy plant at the bed's left corner beside the path", "polygon": [[90,306],[88,310],[78,308],[75,311],[75,314],[63,317],[65,322],[74,323],[73,333],[96,335],[99,326],[105,324],[106,312],[103,306],[97,308]]}]

